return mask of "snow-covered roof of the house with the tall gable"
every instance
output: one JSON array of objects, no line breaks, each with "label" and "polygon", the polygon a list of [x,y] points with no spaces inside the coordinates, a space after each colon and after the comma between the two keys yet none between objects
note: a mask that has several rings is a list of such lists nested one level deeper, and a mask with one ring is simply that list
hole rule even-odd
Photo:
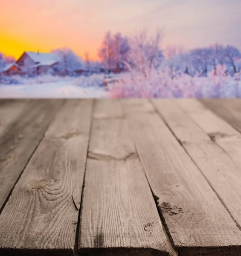
[{"label": "snow-covered roof of the house with the tall gable", "polygon": [[26,54],[38,65],[52,65],[60,61],[57,53],[26,52]]}]

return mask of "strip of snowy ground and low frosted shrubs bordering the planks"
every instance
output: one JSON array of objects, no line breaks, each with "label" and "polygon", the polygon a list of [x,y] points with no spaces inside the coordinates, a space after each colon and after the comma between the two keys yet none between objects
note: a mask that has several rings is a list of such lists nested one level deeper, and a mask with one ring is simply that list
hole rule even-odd
[{"label": "strip of snowy ground and low frosted shrubs bordering the planks", "polygon": [[[106,89],[106,90],[105,90]],[[241,98],[241,73],[174,79],[153,70],[121,76],[39,76],[0,79],[0,98]]]}]

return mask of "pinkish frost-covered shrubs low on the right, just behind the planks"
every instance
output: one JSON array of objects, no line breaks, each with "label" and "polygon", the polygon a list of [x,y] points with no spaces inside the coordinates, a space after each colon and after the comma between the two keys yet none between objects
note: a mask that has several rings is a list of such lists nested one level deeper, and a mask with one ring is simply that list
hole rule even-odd
[{"label": "pinkish frost-covered shrubs low on the right, just behind the planks", "polygon": [[218,66],[207,77],[191,77],[178,73],[174,78],[170,70],[151,70],[148,73],[133,71],[108,86],[114,98],[226,98],[240,97],[241,74],[226,75],[225,67]]}]

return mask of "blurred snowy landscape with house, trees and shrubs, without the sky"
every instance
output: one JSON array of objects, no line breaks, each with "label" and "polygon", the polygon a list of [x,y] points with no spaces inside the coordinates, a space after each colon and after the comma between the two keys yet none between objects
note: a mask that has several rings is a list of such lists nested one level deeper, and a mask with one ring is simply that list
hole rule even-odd
[{"label": "blurred snowy landscape with house, trees and shrubs, without the sky", "polygon": [[213,44],[185,50],[162,47],[163,29],[134,36],[107,32],[99,60],[68,48],[0,54],[2,98],[225,98],[241,97],[241,52]]}]

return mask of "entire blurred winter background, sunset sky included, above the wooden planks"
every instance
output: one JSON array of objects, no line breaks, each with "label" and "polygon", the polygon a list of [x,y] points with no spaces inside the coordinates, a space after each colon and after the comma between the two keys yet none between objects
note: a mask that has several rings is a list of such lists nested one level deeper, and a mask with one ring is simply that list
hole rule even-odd
[{"label": "entire blurred winter background, sunset sky included, above the wooden planks", "polygon": [[5,0],[0,98],[240,98],[240,9],[241,0]]}]

